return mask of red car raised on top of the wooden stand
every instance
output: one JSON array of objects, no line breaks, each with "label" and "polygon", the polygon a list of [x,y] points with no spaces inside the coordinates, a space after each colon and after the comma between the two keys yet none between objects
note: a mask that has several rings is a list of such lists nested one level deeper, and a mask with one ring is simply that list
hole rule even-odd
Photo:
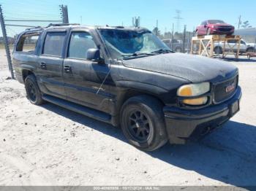
[{"label": "red car raised on top of the wooden stand", "polygon": [[205,20],[195,30],[197,36],[210,34],[233,34],[234,26],[225,23],[222,20]]}]

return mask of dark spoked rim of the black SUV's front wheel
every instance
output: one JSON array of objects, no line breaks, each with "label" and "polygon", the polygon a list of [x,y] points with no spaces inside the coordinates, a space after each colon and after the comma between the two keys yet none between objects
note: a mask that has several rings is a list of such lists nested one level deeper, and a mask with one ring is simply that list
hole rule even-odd
[{"label": "dark spoked rim of the black SUV's front wheel", "polygon": [[143,142],[150,138],[153,127],[148,116],[140,109],[135,109],[129,114],[128,131],[133,139]]}]

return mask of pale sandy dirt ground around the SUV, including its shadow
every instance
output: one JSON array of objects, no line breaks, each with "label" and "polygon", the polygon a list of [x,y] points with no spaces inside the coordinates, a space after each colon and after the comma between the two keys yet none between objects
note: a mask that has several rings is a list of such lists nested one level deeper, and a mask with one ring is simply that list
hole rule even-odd
[{"label": "pale sandy dirt ground around the SUV, including its shadow", "polygon": [[256,60],[245,61],[231,62],[243,90],[235,117],[199,142],[141,152],[118,128],[30,104],[0,50],[0,185],[256,185]]}]

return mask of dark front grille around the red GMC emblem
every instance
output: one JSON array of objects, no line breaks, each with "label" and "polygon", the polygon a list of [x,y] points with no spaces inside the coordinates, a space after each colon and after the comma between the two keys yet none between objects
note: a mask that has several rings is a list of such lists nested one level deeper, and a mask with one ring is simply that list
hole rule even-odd
[{"label": "dark front grille around the red GMC emblem", "polygon": [[[227,91],[230,85],[235,85],[236,87],[233,90]],[[228,79],[225,82],[220,82],[217,85],[214,85],[214,102],[219,103],[227,100],[232,97],[236,88],[238,86],[238,76]]]}]

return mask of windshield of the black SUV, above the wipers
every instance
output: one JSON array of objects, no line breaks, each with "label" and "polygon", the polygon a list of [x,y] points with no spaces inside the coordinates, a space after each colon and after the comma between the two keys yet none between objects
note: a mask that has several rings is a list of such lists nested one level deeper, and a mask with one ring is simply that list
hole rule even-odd
[{"label": "windshield of the black SUV, above the wipers", "polygon": [[[113,59],[156,55],[161,53],[161,50],[162,52],[170,52],[169,47],[150,31],[102,29],[99,32]],[[160,52],[156,52],[159,50]]]}]

